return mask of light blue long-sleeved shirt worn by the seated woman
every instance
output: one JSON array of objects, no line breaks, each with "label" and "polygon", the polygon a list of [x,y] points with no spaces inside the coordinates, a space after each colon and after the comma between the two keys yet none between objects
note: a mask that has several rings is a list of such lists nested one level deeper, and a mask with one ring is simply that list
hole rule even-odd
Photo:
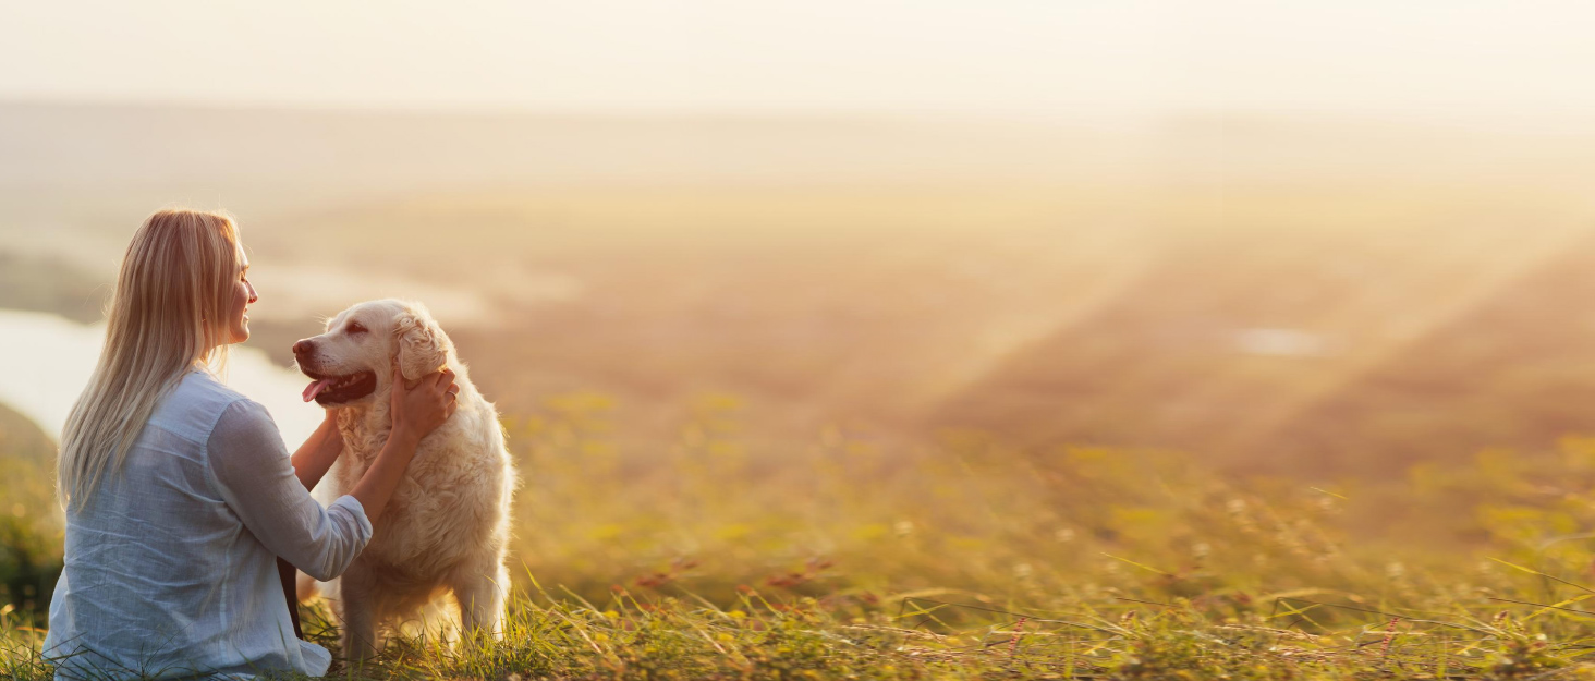
[{"label": "light blue long-sleeved shirt worn by the seated woman", "polygon": [[352,496],[309,496],[263,407],[191,372],[67,514],[45,660],[57,678],[321,676],[332,655],[293,636],[276,557],[325,581],[370,537]]}]

